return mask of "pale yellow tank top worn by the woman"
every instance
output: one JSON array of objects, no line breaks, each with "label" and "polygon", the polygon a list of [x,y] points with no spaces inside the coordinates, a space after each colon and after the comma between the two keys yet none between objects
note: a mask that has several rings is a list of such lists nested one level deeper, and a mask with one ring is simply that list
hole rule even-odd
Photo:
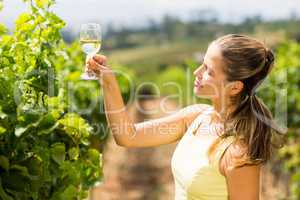
[{"label": "pale yellow tank top worn by the woman", "polygon": [[175,181],[175,200],[228,199],[226,179],[219,171],[219,160],[234,137],[230,136],[218,145],[209,163],[207,150],[218,137],[208,124],[211,112],[212,107],[196,117],[173,153],[171,167]]}]

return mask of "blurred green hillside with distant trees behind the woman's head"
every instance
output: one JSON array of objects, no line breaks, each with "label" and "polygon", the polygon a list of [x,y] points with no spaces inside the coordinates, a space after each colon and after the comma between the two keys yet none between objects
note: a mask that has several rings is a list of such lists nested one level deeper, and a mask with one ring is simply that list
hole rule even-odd
[{"label": "blurred green hillside with distant trees behind the woman's head", "polygon": [[[143,27],[106,27],[101,52],[112,63],[128,66],[153,81],[153,76],[174,65],[183,68],[186,62],[201,61],[207,45],[218,36],[228,33],[253,35],[275,48],[281,41],[300,41],[300,19],[263,20],[260,16],[248,17],[240,23],[222,23],[216,13],[199,11],[190,21],[165,16],[162,21],[149,20]],[[65,41],[77,38],[72,32],[63,32]]]}]

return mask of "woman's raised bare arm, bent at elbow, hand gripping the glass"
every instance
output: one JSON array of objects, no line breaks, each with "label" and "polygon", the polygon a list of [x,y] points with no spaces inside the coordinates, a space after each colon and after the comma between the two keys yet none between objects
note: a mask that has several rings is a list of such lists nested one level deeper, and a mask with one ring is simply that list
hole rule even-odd
[{"label": "woman's raised bare arm, bent at elbow, hand gripping the glass", "polygon": [[88,60],[87,65],[99,77],[108,126],[120,146],[151,147],[175,142],[195,117],[208,107],[206,104],[191,105],[169,116],[134,124],[124,106],[115,75],[106,65],[106,58],[96,55]]}]

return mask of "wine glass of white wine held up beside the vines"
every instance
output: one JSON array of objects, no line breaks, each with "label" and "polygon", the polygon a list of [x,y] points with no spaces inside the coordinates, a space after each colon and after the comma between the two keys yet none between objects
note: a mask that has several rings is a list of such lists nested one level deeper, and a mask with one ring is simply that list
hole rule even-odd
[{"label": "wine glass of white wine held up beside the vines", "polygon": [[[80,46],[88,58],[94,56],[101,49],[101,26],[97,23],[82,24],[80,28]],[[97,76],[84,68],[81,75],[83,80],[98,80]]]}]

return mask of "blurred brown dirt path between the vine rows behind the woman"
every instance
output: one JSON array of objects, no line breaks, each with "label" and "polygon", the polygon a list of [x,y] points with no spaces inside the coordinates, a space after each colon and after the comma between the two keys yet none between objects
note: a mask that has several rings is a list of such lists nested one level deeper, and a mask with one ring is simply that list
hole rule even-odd
[{"label": "blurred brown dirt path between the vine rows behind the woman", "polygon": [[[146,100],[140,104],[144,110],[154,114],[143,114],[136,107],[130,108],[135,122],[154,119],[166,115],[160,108],[171,111],[176,103],[161,99]],[[155,148],[123,148],[117,146],[112,137],[104,147],[104,184],[90,193],[90,200],[173,200],[174,182],[171,174],[171,156],[175,144]],[[274,177],[271,165],[262,169],[261,200],[283,199],[288,184],[286,177]],[[280,171],[273,173],[281,174]]]}]

